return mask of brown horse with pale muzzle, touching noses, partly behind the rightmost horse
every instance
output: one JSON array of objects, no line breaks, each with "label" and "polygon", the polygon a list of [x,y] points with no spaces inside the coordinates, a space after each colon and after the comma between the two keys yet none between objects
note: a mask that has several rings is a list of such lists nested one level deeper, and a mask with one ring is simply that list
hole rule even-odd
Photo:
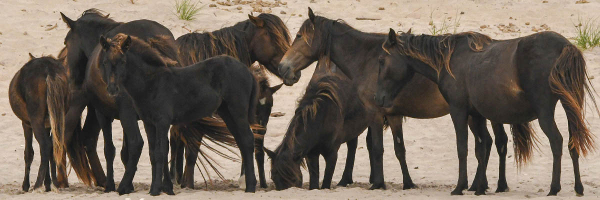
[{"label": "brown horse with pale muzzle, touching noses, partly behind the rightmost horse", "polygon": [[[308,17],[309,19],[302,23],[298,34],[296,34],[296,38],[292,42],[292,47],[281,59],[279,71],[284,83],[286,85],[296,83],[301,76],[301,70],[307,68],[308,65],[317,60],[324,62],[324,68],[329,68],[328,63],[330,66],[332,64],[337,66],[336,68],[339,71],[352,79],[352,84],[357,85],[359,91],[358,98],[361,99],[364,106],[367,109],[379,112],[380,115],[385,115],[390,121],[392,137],[394,138],[394,150],[397,159],[400,161],[403,174],[403,189],[415,188],[416,186],[410,178],[406,165],[406,149],[404,148],[402,132],[403,122],[402,120],[390,119],[403,117],[437,118],[447,115],[449,113],[448,103],[446,103],[442,94],[440,94],[436,83],[424,76],[415,75],[407,82],[407,86],[402,89],[401,94],[397,98],[391,99],[394,101],[394,106],[392,108],[381,109],[380,106],[376,105],[373,97],[377,86],[377,56],[380,52],[383,52],[381,44],[385,41],[386,35],[358,31],[342,20],[331,20],[326,17],[315,16],[310,8],[308,9]],[[319,66],[317,65],[317,68]],[[317,74],[317,71],[319,71],[318,73],[328,73],[328,70],[324,69],[316,70],[315,74]],[[377,127],[374,130],[373,136],[377,136],[377,138],[371,139],[371,142],[375,142],[372,144],[375,148],[374,154],[380,155],[383,151],[382,138],[379,136],[381,135],[379,133],[381,128]],[[502,124],[493,123],[493,130],[497,138],[496,148],[500,155],[500,174],[496,192],[505,192],[508,191],[505,176],[505,149],[508,137]],[[491,147],[491,136],[489,136],[489,133],[487,137],[490,138],[487,143],[476,143],[478,149],[481,148],[479,147],[480,145],[485,145],[488,148]],[[368,138],[370,137],[367,136]],[[489,153],[488,151],[487,154],[481,157],[479,154],[477,155],[478,160],[485,161],[478,168],[487,164]],[[371,157],[376,161],[373,162],[371,160],[371,164],[380,163],[379,160],[382,159],[380,156],[372,155]],[[376,171],[383,172],[382,166],[376,165],[374,167],[381,168],[376,169]],[[474,182],[479,180],[479,176],[485,177],[485,173],[481,175],[479,173],[476,174]],[[375,173],[374,176],[371,176],[371,182],[373,180],[376,180],[375,182],[380,184],[379,188],[385,188],[383,174],[378,177],[377,173]],[[478,185],[474,184],[470,190],[476,190],[475,186]],[[482,185],[482,187],[487,189],[487,181],[482,183]]]}]

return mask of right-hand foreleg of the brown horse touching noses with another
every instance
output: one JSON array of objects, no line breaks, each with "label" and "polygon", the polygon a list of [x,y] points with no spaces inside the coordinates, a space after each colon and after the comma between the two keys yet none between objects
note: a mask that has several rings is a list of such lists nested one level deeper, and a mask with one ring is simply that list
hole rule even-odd
[{"label": "right-hand foreleg of the brown horse touching noses with another", "polygon": [[403,190],[416,188],[412,178],[410,178],[409,167],[406,164],[406,148],[404,147],[404,133],[402,130],[402,119],[404,116],[387,116],[389,127],[392,129],[392,139],[394,140],[394,151],[396,158],[400,162],[402,169]]}]

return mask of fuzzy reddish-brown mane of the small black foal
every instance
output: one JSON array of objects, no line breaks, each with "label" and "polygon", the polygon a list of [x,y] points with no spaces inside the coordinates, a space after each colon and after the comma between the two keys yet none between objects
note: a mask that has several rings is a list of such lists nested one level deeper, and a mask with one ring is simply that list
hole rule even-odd
[{"label": "fuzzy reddish-brown mane of the small black foal", "polygon": [[180,66],[175,52],[175,44],[173,44],[167,35],[158,35],[157,37],[148,39],[148,41],[144,41],[132,35],[119,33],[112,39],[109,39],[109,43],[112,44],[110,50],[111,59],[123,54],[121,45],[127,37],[131,37],[129,51],[138,53],[142,58],[150,62],[150,64],[164,67]]}]

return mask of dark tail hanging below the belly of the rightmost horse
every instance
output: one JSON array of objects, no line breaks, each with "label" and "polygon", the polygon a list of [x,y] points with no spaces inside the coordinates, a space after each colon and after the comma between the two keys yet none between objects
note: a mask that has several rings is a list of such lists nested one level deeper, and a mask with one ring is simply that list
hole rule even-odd
[{"label": "dark tail hanging below the belly of the rightmost horse", "polygon": [[515,161],[517,167],[527,164],[532,159],[534,144],[537,146],[538,138],[531,123],[511,124],[513,147],[515,150]]}]

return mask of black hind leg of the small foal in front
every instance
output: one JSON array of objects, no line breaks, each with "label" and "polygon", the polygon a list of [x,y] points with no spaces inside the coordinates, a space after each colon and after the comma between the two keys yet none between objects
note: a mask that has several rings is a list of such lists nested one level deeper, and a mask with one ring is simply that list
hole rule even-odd
[{"label": "black hind leg of the small foal in front", "polygon": [[223,121],[227,125],[227,129],[235,138],[238,144],[239,151],[242,154],[242,163],[245,168],[246,178],[246,189],[245,192],[256,191],[256,176],[254,175],[254,135],[250,130],[250,123],[248,123],[248,108],[244,108],[243,105],[233,106],[226,105],[223,103],[219,108],[218,114],[223,118]]}]

